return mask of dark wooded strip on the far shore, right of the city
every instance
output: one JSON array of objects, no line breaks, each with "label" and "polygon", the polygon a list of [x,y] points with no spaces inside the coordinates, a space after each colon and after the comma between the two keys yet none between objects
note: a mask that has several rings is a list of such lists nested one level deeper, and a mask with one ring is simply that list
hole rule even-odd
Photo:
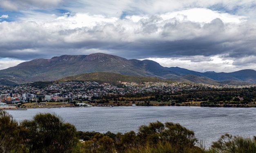
[{"label": "dark wooded strip on the far shore, right of the city", "polygon": [[[243,98],[240,101],[238,97]],[[211,89],[203,88],[191,91],[180,91],[175,93],[170,92],[143,92],[136,94],[125,95],[107,95],[103,97],[93,97],[93,100],[97,100],[101,103],[105,101],[156,101],[156,102],[170,102],[176,101],[176,103],[191,102],[191,101],[210,101],[210,102],[230,102],[239,101],[240,103],[250,103],[256,101],[256,87],[234,89]]]}]

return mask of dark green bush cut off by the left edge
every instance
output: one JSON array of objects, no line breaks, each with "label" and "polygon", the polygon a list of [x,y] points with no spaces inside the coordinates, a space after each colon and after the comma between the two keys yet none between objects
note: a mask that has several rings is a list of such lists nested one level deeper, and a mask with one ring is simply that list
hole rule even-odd
[{"label": "dark green bush cut off by the left edge", "polygon": [[0,110],[0,153],[18,149],[21,142],[18,122],[6,111]]}]

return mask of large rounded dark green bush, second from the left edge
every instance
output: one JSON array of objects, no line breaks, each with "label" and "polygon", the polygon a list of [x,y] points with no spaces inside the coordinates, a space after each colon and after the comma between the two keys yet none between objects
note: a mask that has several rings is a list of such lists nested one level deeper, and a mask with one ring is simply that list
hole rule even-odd
[{"label": "large rounded dark green bush, second from the left edge", "polygon": [[25,145],[31,153],[71,153],[77,145],[76,128],[52,114],[37,114],[24,120]]}]

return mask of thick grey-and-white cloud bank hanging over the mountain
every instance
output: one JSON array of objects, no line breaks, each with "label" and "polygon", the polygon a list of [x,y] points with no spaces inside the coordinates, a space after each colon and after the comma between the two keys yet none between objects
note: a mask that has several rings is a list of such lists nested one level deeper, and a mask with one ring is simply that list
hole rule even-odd
[{"label": "thick grey-and-white cloud bank hanging over the mountain", "polygon": [[19,21],[0,22],[0,57],[29,60],[97,51],[130,59],[179,58],[180,64],[201,63],[191,65],[200,71],[205,63],[209,68],[235,70],[246,60],[213,63],[213,57],[237,61],[256,56],[255,27],[256,22],[245,16],[203,8],[122,19],[91,13],[29,15],[27,11]]}]

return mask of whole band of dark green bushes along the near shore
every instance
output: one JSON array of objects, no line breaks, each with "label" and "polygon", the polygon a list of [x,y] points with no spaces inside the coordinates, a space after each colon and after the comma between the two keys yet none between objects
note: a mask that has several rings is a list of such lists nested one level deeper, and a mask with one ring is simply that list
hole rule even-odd
[{"label": "whole band of dark green bushes along the near shore", "polygon": [[18,123],[0,111],[0,129],[0,153],[256,153],[256,137],[224,134],[208,149],[173,122],[151,122],[137,133],[98,133],[77,131],[53,114]]}]

